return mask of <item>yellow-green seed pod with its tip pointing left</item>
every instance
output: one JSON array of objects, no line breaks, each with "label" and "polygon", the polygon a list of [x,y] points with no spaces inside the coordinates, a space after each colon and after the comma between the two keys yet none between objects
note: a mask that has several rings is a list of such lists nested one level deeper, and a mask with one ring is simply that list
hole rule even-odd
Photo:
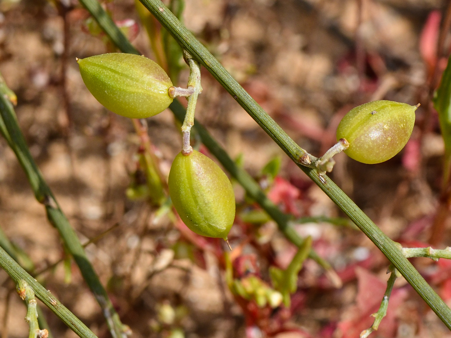
[{"label": "yellow-green seed pod with its tip pointing left", "polygon": [[154,61],[144,56],[109,53],[78,59],[83,82],[112,112],[130,118],[161,113],[172,102],[172,82]]}]

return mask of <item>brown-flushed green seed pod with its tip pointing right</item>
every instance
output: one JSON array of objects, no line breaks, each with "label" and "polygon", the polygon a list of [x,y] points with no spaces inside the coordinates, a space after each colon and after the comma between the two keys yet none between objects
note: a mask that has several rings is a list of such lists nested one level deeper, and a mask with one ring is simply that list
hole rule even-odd
[{"label": "brown-flushed green seed pod with its tip pointing right", "polygon": [[374,164],[396,155],[407,143],[417,106],[393,101],[373,101],[351,109],[337,128],[337,140],[345,138],[344,152],[356,161]]}]

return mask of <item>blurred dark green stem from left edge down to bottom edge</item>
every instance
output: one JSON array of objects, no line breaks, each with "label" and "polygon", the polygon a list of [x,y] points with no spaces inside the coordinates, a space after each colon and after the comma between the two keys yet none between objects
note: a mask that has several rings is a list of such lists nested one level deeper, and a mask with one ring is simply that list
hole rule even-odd
[{"label": "blurred dark green stem from left edge down to bottom edge", "polygon": [[100,283],[99,277],[89,262],[77,234],[71,227],[63,211],[60,209],[52,191],[44,181],[38,166],[33,160],[24,135],[19,127],[12,103],[8,99],[8,96],[2,95],[1,93],[0,133],[2,133],[10,147],[16,153],[16,157],[27,175],[36,199],[45,206],[47,218],[58,230],[64,245],[79,266],[83,278],[91,288],[91,291],[102,308],[102,312],[107,320],[113,338],[126,337],[126,333],[129,330],[128,326],[121,323],[119,315],[114,309],[106,290]]}]

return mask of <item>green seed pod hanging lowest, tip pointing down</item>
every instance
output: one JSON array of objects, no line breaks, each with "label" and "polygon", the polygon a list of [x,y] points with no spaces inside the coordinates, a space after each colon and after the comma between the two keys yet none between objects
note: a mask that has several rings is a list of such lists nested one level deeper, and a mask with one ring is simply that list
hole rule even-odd
[{"label": "green seed pod hanging lowest, tip pointing down", "polygon": [[235,219],[235,195],[227,176],[210,158],[193,150],[172,162],[169,195],[186,226],[196,234],[227,239]]}]

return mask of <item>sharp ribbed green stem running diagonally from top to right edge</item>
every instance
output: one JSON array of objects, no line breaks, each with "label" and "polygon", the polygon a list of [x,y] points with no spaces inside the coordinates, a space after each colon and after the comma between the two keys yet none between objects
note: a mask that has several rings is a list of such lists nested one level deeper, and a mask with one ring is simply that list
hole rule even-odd
[{"label": "sharp ribbed green stem running diagonally from top to right edge", "polygon": [[[444,324],[451,329],[451,310],[434,292],[418,271],[404,257],[397,245],[361,211],[328,177],[320,180],[315,168],[307,167],[316,158],[306,158],[306,151],[299,147],[287,133],[263,110],[244,88],[222,67],[208,50],[177,20],[159,0],[140,0],[141,3],[168,30],[180,46],[204,66],[213,77],[237,100],[251,117],[270,135],[287,155],[312,179],[348,217],[381,250],[399,270],[418,294],[432,308]],[[322,182],[324,181],[324,182]]]}]

